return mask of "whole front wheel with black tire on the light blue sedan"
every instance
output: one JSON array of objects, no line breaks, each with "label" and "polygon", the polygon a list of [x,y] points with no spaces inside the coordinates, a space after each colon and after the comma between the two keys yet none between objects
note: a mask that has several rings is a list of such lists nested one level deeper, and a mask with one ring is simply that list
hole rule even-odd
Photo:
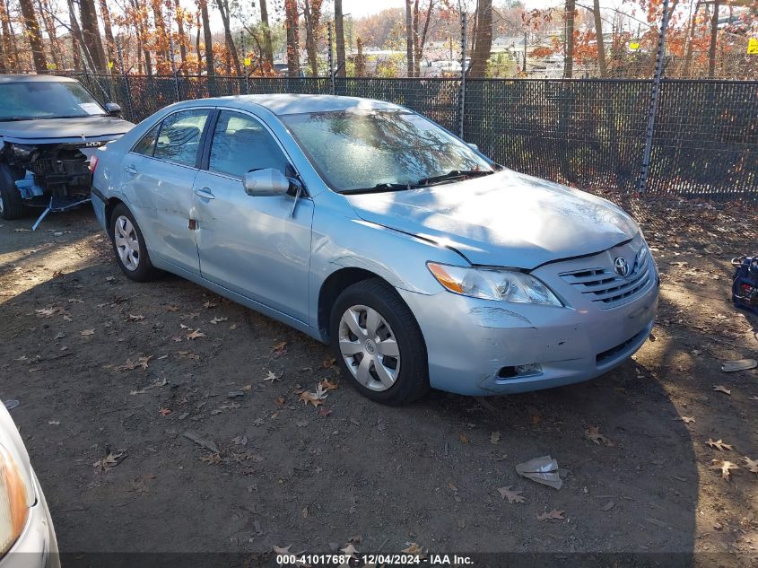
[{"label": "whole front wheel with black tire on the light blue sedan", "polygon": [[329,331],[345,380],[364,397],[402,406],[429,392],[421,329],[405,301],[383,280],[345,288],[332,308]]}]

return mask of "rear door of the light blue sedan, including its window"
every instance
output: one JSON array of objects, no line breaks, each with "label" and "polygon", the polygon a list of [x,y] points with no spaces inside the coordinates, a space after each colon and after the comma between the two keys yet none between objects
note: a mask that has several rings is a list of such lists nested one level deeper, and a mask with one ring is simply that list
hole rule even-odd
[{"label": "rear door of the light blue sedan, including its window", "polygon": [[122,162],[124,194],[153,261],[199,275],[196,234],[189,229],[192,188],[205,125],[213,109],[171,113]]}]

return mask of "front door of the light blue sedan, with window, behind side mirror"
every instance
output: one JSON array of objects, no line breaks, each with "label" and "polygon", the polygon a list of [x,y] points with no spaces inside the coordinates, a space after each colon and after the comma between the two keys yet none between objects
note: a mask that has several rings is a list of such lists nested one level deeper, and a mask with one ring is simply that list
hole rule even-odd
[{"label": "front door of the light blue sedan, with window, behind side mirror", "polygon": [[201,275],[307,323],[313,202],[301,197],[292,215],[294,197],[250,197],[242,186],[250,170],[294,175],[281,144],[252,115],[221,110],[205,152],[193,209]]}]

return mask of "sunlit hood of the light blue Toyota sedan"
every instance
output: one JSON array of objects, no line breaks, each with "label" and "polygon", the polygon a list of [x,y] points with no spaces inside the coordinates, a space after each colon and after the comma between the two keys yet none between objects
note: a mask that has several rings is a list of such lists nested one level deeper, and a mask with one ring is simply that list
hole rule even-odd
[{"label": "sunlit hood of the light blue Toyota sedan", "polygon": [[457,249],[480,266],[533,269],[610,249],[640,230],[605,199],[511,170],[345,197],[364,221]]}]

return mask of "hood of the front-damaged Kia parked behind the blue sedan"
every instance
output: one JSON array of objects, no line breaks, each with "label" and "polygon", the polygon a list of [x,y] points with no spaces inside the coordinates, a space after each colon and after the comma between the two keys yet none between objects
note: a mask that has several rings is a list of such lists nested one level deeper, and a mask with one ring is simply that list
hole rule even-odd
[{"label": "hood of the front-damaged Kia parked behind the blue sedan", "polygon": [[108,141],[134,127],[115,117],[40,118],[0,122],[0,137],[21,144],[57,144],[83,140]]}]

